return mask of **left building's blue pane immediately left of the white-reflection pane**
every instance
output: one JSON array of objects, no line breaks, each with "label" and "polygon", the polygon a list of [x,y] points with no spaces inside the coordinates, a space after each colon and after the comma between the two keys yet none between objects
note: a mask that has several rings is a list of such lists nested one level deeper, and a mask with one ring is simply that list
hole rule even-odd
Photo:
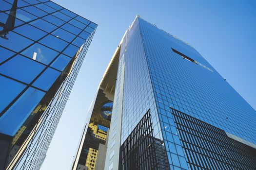
[{"label": "left building's blue pane immediately left of the white-reflection pane", "polygon": [[[8,40],[0,38],[0,45],[17,52],[33,43],[33,41],[28,38],[14,32],[9,32],[6,37]],[[17,44],[19,44],[19,46],[17,46]]]}]

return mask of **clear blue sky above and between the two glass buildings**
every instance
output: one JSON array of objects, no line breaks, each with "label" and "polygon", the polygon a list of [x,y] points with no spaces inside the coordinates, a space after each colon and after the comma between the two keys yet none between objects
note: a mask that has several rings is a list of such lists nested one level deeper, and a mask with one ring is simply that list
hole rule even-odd
[{"label": "clear blue sky above and between the two glass buildings", "polygon": [[255,0],[53,0],[98,24],[41,170],[70,170],[89,105],[136,15],[191,44],[256,109]]}]

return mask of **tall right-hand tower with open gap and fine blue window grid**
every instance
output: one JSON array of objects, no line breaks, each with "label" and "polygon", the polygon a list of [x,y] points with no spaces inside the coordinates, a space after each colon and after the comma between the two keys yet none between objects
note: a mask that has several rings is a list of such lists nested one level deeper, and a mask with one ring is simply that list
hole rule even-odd
[{"label": "tall right-hand tower with open gap and fine blue window grid", "polygon": [[256,111],[177,37],[136,17],[100,83],[110,89],[107,137],[95,142],[91,117],[74,170],[255,170]]}]

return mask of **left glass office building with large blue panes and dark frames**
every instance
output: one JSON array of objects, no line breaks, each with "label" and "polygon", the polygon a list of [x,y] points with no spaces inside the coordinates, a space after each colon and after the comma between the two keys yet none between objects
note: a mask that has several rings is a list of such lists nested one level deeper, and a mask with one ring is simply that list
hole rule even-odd
[{"label": "left glass office building with large blue panes and dark frames", "polygon": [[97,24],[49,0],[0,10],[0,170],[37,170]]}]

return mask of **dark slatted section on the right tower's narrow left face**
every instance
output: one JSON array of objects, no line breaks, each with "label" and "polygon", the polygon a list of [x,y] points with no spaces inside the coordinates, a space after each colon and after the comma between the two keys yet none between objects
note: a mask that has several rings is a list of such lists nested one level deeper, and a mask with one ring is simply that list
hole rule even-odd
[{"label": "dark slatted section on the right tower's narrow left face", "polygon": [[168,170],[162,143],[154,137],[148,110],[120,147],[119,170]]}]

